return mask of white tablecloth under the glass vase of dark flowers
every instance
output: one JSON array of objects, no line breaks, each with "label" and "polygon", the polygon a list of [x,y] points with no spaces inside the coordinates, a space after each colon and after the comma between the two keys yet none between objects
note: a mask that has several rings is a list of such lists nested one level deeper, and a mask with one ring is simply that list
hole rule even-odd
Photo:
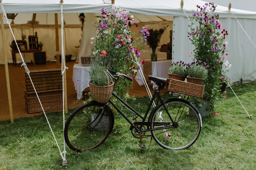
[{"label": "white tablecloth under the glass vase of dark flowers", "polygon": [[[168,69],[170,67],[170,64],[171,64],[171,60],[152,62],[151,75],[155,77],[168,78],[169,77]],[[141,66],[141,70],[143,71],[143,65]],[[140,86],[144,84],[141,74],[139,72],[137,73],[135,80],[138,82]],[[151,83],[153,83],[153,89],[155,89],[157,85],[155,85],[153,81],[151,81]]]}]

